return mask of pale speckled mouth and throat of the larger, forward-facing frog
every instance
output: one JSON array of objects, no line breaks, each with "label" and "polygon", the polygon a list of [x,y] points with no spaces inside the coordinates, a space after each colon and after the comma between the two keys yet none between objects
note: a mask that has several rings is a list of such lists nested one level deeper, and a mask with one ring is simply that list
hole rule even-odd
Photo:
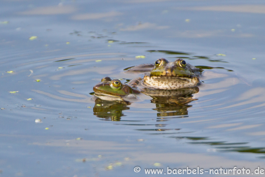
[{"label": "pale speckled mouth and throat of the larger, forward-facing frog", "polygon": [[148,87],[162,90],[174,90],[196,86],[200,82],[196,76],[172,77],[172,76],[144,76],[144,84]]}]

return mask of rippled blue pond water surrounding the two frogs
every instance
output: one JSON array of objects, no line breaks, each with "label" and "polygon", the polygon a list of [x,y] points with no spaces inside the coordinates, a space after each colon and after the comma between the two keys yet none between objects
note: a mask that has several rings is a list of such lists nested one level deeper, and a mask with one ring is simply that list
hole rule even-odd
[{"label": "rippled blue pond water surrounding the two frogs", "polygon": [[[264,1],[4,0],[0,13],[1,176],[264,169]],[[89,94],[161,57],[204,66],[194,101]]]}]

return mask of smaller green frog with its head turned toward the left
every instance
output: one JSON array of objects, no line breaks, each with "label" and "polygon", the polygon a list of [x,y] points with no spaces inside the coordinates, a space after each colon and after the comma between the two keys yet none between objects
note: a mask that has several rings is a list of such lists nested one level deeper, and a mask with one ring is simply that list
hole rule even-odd
[{"label": "smaller green frog with its head turned toward the left", "polygon": [[140,92],[134,87],[121,83],[118,79],[104,77],[101,82],[96,84],[93,88],[95,96],[102,100],[108,101],[123,101],[123,98],[129,94],[139,94]]}]

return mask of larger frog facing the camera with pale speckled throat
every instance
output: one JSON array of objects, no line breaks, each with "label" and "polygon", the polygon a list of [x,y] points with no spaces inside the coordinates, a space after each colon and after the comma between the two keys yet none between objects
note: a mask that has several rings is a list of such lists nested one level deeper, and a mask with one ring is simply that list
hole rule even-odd
[{"label": "larger frog facing the camera with pale speckled throat", "polygon": [[[144,64],[128,68],[128,71],[150,71],[151,64],[146,64],[147,70],[143,70]],[[146,87],[162,90],[175,90],[180,88],[194,87],[199,82],[202,70],[179,58],[169,62],[160,58],[153,64],[153,69],[143,78]]]}]

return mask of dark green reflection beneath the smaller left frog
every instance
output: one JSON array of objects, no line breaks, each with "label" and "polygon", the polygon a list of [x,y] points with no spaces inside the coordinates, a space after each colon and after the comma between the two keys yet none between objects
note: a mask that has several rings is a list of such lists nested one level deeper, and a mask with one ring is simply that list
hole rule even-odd
[{"label": "dark green reflection beneath the smaller left frog", "polygon": [[122,110],[130,109],[127,107],[130,102],[126,101],[107,101],[97,98],[93,108],[94,115],[106,120],[120,121],[121,116],[125,116]]}]

